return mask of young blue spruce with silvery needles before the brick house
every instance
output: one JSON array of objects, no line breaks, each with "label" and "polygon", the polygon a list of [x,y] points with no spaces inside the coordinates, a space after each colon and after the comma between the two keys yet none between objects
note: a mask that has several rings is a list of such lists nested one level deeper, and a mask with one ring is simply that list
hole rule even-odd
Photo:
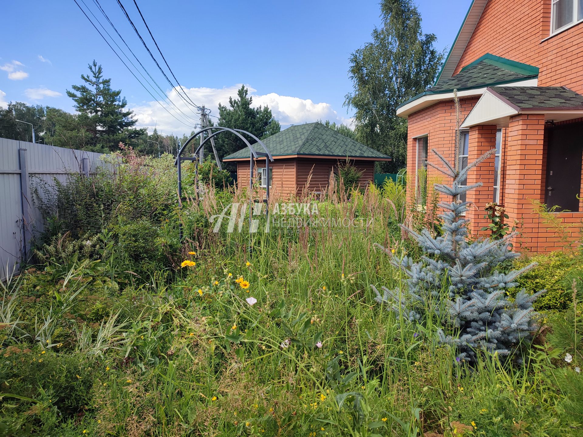
[{"label": "young blue spruce with silvery needles before the brick house", "polygon": [[[455,96],[456,107],[459,101]],[[459,111],[458,111],[459,114]],[[459,115],[455,136],[455,150],[459,153]],[[535,312],[532,302],[545,290],[533,295],[519,291],[512,301],[507,290],[517,286],[515,279],[531,269],[532,263],[522,269],[504,273],[501,263],[519,256],[510,250],[510,241],[515,233],[499,240],[479,239],[470,242],[465,212],[468,202],[458,200],[459,195],[482,185],[481,182],[461,186],[468,172],[493,153],[490,150],[465,168],[450,164],[440,153],[432,150],[441,165],[428,163],[448,178],[452,185],[436,184],[435,189],[451,198],[440,202],[444,212],[443,234],[431,235],[428,230],[417,233],[404,227],[424,252],[419,262],[408,256],[399,259],[392,255],[392,263],[408,276],[408,290],[388,290],[384,294],[373,287],[375,300],[387,305],[410,322],[437,315],[442,323],[438,330],[440,343],[456,348],[457,361],[476,358],[477,351],[489,351],[498,355],[514,355],[523,342],[530,340],[536,329],[532,323]],[[458,153],[455,156],[458,156]],[[455,159],[455,158],[454,158]],[[456,160],[457,161],[457,160]],[[390,251],[386,251],[391,255]],[[445,284],[445,294],[443,290]],[[445,305],[440,305],[445,299]],[[440,302],[441,301],[441,302]]]}]

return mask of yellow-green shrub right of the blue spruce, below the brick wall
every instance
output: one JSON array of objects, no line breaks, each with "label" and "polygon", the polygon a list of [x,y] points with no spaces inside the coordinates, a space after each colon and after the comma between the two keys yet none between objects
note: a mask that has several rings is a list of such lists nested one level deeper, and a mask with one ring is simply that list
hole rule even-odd
[{"label": "yellow-green shrub right of the blue spruce, below the brick wall", "polygon": [[529,294],[539,290],[547,290],[545,294],[536,299],[533,305],[536,311],[567,309],[573,300],[569,277],[576,258],[563,252],[553,252],[547,255],[519,258],[515,260],[514,267],[521,269],[531,262],[536,262],[538,265],[518,277],[518,286],[510,291],[512,297],[522,288]]}]

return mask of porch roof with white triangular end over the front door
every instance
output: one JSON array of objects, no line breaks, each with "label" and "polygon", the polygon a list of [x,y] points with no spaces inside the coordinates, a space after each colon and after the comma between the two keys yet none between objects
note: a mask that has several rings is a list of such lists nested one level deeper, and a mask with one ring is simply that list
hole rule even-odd
[{"label": "porch roof with white triangular end over the front door", "polygon": [[553,121],[583,117],[583,96],[560,86],[487,87],[461,127],[504,127],[510,117],[522,113],[545,114],[546,120]]}]

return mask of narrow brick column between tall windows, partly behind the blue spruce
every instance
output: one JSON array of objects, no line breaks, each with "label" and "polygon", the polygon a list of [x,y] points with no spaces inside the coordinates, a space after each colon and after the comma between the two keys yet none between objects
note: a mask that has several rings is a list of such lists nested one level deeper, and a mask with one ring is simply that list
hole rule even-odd
[{"label": "narrow brick column between tall windows, partly behind the blue spruce", "polygon": [[[496,148],[496,125],[480,125],[470,128],[468,163],[473,163],[477,158],[491,149]],[[470,170],[468,174],[468,185],[482,182],[482,186],[469,191],[466,200],[472,202],[466,213],[466,218],[472,222],[469,230],[474,235],[490,235],[488,231],[482,231],[488,221],[484,218],[486,203],[494,199],[494,155]]]}]

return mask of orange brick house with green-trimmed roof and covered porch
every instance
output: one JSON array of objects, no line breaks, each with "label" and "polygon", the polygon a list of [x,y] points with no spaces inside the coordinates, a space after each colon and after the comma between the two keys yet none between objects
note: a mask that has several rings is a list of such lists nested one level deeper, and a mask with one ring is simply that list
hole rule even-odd
[{"label": "orange brick house with green-trimmed roof and covered porch", "polygon": [[[468,175],[483,186],[466,193],[470,230],[486,225],[484,206],[505,206],[519,221],[515,248],[560,249],[556,232],[533,213],[533,200],[557,206],[572,241],[583,218],[583,1],[473,0],[433,87],[402,104],[408,119],[407,171],[427,168],[436,149],[454,156],[455,108],[461,103],[459,158],[496,154]],[[429,167],[428,178],[437,175]],[[419,179],[419,178],[417,178]],[[419,181],[415,181],[416,184]]]}]

